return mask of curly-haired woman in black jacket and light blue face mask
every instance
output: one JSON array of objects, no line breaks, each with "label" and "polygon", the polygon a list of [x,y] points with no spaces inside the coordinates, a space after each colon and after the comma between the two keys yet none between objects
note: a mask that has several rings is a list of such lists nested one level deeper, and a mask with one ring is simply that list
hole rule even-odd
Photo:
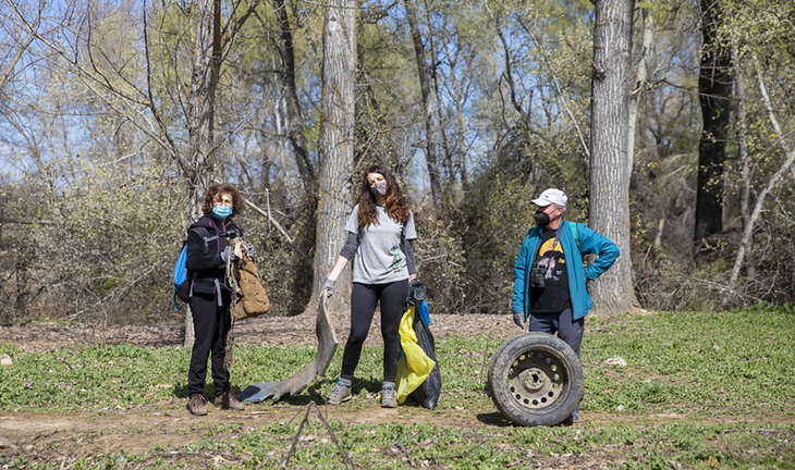
[{"label": "curly-haired woman in black jacket and light blue face mask", "polygon": [[207,415],[204,392],[208,356],[211,356],[216,387],[215,405],[235,411],[245,408],[231,391],[224,363],[227,336],[232,325],[232,290],[227,283],[227,261],[234,261],[228,240],[242,236],[242,231],[232,221],[242,209],[243,197],[233,185],[212,184],[205,195],[204,215],[188,230],[186,267],[195,339],[187,372],[187,409],[195,416]]}]

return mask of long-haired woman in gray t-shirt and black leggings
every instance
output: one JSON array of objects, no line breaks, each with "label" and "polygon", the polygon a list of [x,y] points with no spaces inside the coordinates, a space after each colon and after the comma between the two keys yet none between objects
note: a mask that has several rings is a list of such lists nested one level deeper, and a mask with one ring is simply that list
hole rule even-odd
[{"label": "long-haired woman in gray t-shirt and black leggings", "polygon": [[381,406],[394,408],[394,384],[400,356],[400,321],[408,283],[417,275],[412,240],[417,238],[414,217],[394,176],[383,166],[367,169],[356,207],[345,225],[347,239],[331,270],[322,295],[334,293],[334,283],[355,255],[351,293],[351,334],[342,356],[342,372],[328,397],[329,405],[350,400],[351,383],[362,356],[362,345],[380,302],[383,337]]}]

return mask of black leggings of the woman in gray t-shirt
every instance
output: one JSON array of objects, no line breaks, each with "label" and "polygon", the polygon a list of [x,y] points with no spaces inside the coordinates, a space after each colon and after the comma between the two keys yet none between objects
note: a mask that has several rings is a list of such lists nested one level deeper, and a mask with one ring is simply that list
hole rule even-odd
[{"label": "black leggings of the woman in gray t-shirt", "polygon": [[383,381],[394,382],[401,351],[399,329],[408,295],[408,281],[391,284],[353,284],[351,293],[351,334],[345,343],[340,376],[352,380],[362,356],[362,345],[370,331],[376,304],[381,301],[381,336],[383,337]]}]

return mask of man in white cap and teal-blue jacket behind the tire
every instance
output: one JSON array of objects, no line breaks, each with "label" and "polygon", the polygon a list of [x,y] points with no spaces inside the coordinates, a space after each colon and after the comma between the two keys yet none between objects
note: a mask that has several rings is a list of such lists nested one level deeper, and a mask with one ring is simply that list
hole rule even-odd
[{"label": "man in white cap and teal-blue jacket behind the tire", "polygon": [[[595,280],[619,258],[619,247],[585,224],[566,222],[566,195],[549,188],[533,203],[538,226],[530,228],[522,242],[514,265],[513,320],[522,329],[529,317],[531,332],[558,336],[579,357],[585,316],[594,307],[586,280]],[[583,268],[585,255],[597,255]],[[566,420],[575,422],[575,410]]]}]

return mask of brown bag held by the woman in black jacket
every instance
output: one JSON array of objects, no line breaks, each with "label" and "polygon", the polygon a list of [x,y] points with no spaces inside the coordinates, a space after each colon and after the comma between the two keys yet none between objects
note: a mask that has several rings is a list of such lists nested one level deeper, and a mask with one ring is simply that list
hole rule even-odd
[{"label": "brown bag held by the woman in black jacket", "polygon": [[259,317],[268,313],[270,300],[265,294],[265,287],[259,280],[259,272],[248,256],[246,243],[236,238],[233,243],[233,250],[237,260],[232,264],[232,273],[235,283],[235,320]]}]

